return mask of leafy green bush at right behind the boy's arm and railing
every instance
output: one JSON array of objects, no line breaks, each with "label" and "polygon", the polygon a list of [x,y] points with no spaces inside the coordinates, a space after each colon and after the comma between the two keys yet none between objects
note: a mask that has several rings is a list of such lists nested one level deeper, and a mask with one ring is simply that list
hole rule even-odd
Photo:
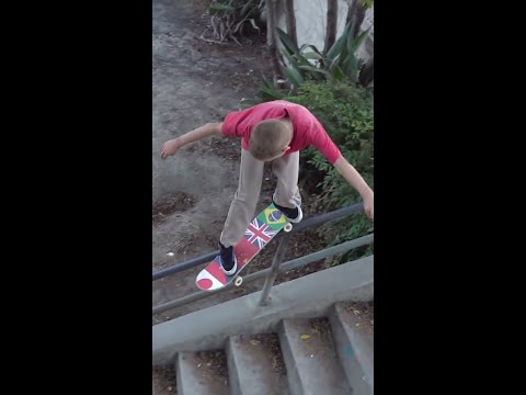
[{"label": "leafy green bush at right behind the boy's arm and railing", "polygon": [[[307,106],[321,122],[342,155],[374,188],[374,97],[348,81],[306,82],[296,97],[287,100]],[[315,148],[301,153],[304,172],[320,177],[315,191],[324,211],[348,206],[362,199],[336,169]],[[374,230],[373,223],[361,212],[322,226],[319,232],[333,246]],[[368,255],[373,245],[336,257],[335,263]]]}]

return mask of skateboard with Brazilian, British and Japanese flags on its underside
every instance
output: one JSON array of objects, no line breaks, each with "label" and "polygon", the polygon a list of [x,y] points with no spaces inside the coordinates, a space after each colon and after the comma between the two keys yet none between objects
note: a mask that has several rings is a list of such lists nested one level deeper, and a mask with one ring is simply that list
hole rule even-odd
[{"label": "skateboard with Brazilian, British and Japanese flags on its underside", "polygon": [[243,279],[239,272],[265,247],[282,229],[290,232],[293,225],[287,217],[276,208],[268,205],[249,224],[244,235],[233,247],[238,260],[238,269],[232,275],[226,275],[221,269],[219,256],[203,269],[195,280],[195,284],[203,291],[216,291],[227,286],[232,281],[236,286],[242,284]]}]

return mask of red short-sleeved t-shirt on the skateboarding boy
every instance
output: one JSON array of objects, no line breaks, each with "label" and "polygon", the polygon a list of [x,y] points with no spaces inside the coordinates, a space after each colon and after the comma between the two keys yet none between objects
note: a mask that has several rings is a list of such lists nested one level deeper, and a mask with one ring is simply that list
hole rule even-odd
[{"label": "red short-sleeved t-shirt on the skateboarding boy", "polygon": [[249,149],[250,134],[255,124],[265,120],[279,120],[287,115],[293,122],[294,135],[289,144],[290,149],[285,155],[312,145],[334,165],[341,153],[320,122],[305,106],[285,100],[265,102],[227,114],[222,123],[222,134],[226,137],[241,137],[242,148]]}]

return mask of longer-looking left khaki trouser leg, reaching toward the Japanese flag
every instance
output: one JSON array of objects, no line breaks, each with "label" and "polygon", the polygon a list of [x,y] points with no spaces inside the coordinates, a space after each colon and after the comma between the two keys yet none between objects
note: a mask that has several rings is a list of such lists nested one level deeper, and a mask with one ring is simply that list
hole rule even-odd
[{"label": "longer-looking left khaki trouser leg, reaching toward the Japanese flag", "polygon": [[241,149],[239,185],[230,204],[219,241],[224,247],[235,246],[243,236],[255,213],[263,179],[264,162]]}]

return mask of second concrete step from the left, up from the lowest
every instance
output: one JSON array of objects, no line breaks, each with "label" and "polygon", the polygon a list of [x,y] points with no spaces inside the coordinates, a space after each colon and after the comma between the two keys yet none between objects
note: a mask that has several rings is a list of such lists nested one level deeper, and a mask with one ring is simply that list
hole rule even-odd
[{"label": "second concrete step from the left, up from the lowest", "polygon": [[231,336],[227,342],[231,395],[288,395],[276,334]]}]

